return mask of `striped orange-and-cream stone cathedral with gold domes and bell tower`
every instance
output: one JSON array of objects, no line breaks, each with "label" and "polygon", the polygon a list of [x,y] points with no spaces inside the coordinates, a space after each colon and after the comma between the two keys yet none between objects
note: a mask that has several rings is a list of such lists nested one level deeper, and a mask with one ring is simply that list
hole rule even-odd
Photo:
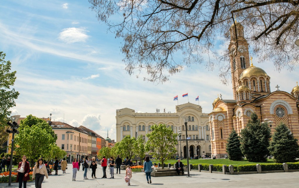
[{"label": "striped orange-and-cream stone cathedral with gold domes and bell tower", "polygon": [[[228,46],[231,61],[231,77],[234,99],[216,98],[213,111],[209,113],[212,156],[224,157],[226,140],[233,129],[237,133],[246,126],[254,112],[261,122],[268,123],[272,133],[276,125],[285,123],[295,138],[299,139],[299,86],[291,93],[271,92],[270,76],[254,66],[249,58],[248,43],[243,26],[236,22],[230,28],[231,42]],[[237,40],[236,40],[237,35]]]}]

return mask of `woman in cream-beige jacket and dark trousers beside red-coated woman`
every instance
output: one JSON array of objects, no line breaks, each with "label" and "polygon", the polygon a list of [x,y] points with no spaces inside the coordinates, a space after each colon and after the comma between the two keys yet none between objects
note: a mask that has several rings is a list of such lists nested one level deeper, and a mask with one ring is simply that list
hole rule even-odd
[{"label": "woman in cream-beige jacket and dark trousers beside red-coated woman", "polygon": [[35,178],[35,188],[42,188],[42,181],[44,181],[45,176],[48,179],[46,165],[44,164],[44,160],[39,158],[34,166],[32,174],[32,180]]}]

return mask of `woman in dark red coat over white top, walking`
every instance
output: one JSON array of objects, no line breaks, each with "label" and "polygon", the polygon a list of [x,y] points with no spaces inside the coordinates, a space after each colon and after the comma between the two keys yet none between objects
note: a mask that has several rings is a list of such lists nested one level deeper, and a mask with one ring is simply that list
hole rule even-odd
[{"label": "woman in dark red coat over white top, walking", "polygon": [[22,183],[24,182],[24,188],[26,188],[27,181],[30,180],[29,177],[29,163],[26,161],[27,157],[24,155],[22,157],[22,162],[18,166],[18,174],[16,182],[19,182],[19,188],[22,188]]}]

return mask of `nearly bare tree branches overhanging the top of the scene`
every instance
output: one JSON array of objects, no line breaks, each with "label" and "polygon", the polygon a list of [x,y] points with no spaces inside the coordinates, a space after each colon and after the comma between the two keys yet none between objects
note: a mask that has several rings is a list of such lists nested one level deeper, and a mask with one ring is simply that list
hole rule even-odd
[{"label": "nearly bare tree branches overhanging the top of the scene", "polygon": [[[229,28],[240,22],[259,62],[272,61],[277,70],[298,63],[298,0],[89,0],[100,21],[123,38],[126,71],[144,80],[165,82],[183,66],[219,63],[226,83],[228,51],[215,46],[229,40]],[[119,21],[119,22],[118,22]],[[220,42],[219,42],[220,41]],[[208,54],[208,60],[203,57]],[[183,58],[181,58],[183,57]],[[213,61],[216,59],[217,61]]]}]

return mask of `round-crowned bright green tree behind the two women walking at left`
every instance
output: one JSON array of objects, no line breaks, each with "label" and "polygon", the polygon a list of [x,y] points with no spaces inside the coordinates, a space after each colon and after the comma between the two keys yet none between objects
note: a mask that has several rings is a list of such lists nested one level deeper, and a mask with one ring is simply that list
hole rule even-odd
[{"label": "round-crowned bright green tree behind the two women walking at left", "polygon": [[[36,119],[34,116],[30,118]],[[37,124],[27,124],[28,122],[31,121],[21,121],[15,144],[19,146],[16,153],[26,155],[32,169],[35,161],[48,153],[49,146],[55,144],[57,137],[53,136],[53,130],[47,122],[37,121]]]}]

